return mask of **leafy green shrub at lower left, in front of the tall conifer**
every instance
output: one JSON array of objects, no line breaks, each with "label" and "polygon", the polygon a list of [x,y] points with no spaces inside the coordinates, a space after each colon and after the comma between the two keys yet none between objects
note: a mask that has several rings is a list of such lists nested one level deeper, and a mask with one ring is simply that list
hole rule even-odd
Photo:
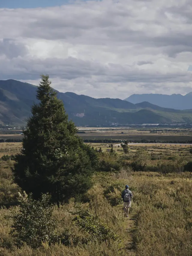
[{"label": "leafy green shrub at lower left, in front of the tall conifer", "polygon": [[57,222],[52,216],[53,209],[49,205],[49,199],[48,194],[42,194],[41,200],[38,201],[32,199],[32,194],[20,194],[19,212],[9,216],[13,218],[11,235],[16,237],[18,245],[26,243],[37,248],[44,242],[50,244],[58,241],[55,232]]}]

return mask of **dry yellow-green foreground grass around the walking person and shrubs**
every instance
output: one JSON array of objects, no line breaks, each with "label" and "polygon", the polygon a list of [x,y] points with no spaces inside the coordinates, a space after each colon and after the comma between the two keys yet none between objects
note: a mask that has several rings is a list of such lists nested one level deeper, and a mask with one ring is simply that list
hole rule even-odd
[{"label": "dry yellow-green foreground grass around the walking person and shrubs", "polygon": [[[6,164],[9,167],[12,163]],[[8,165],[8,166],[7,166]],[[3,166],[1,166],[3,167]],[[8,170],[8,169],[6,169]],[[2,174],[1,174],[2,175]],[[1,178],[0,175],[0,178]],[[122,170],[118,173],[95,173],[93,187],[87,192],[87,203],[99,220],[112,228],[122,239],[121,249],[105,242],[87,244],[43,244],[38,249],[16,247],[10,235],[12,221],[4,218],[18,211],[18,206],[0,209],[0,255],[3,256],[191,256],[192,251],[192,179],[190,173],[172,173],[166,177],[158,172]],[[128,184],[133,193],[130,218],[123,217],[121,192]],[[11,187],[16,193],[18,188]],[[2,194],[0,194],[2,197]],[[54,206],[58,230],[69,230],[71,239],[79,241],[88,234],[74,225],[71,212],[74,201]]]}]

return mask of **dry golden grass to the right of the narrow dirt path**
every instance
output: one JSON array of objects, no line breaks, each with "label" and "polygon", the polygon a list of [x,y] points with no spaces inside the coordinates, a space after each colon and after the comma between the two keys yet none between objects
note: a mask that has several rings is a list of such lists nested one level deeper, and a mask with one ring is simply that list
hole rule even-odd
[{"label": "dry golden grass to the right of the narrow dirt path", "polygon": [[191,255],[192,180],[188,177],[189,173],[168,177],[134,174],[137,255]]}]

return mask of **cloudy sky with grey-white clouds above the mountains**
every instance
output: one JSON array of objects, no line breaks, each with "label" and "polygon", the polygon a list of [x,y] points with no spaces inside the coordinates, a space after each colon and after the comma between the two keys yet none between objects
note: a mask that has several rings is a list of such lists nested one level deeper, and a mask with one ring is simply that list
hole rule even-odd
[{"label": "cloudy sky with grey-white clouds above the mountains", "polygon": [[191,0],[0,0],[0,80],[94,98],[192,91]]}]

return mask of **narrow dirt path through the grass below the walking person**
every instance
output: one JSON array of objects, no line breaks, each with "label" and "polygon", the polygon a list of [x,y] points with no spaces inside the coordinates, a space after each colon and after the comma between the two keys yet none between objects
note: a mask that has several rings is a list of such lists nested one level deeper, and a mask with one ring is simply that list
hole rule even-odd
[{"label": "narrow dirt path through the grass below the walking person", "polygon": [[135,218],[133,215],[129,215],[129,218],[125,218],[125,230],[127,233],[127,239],[125,241],[125,249],[129,256],[135,256],[134,242],[133,242],[133,232],[135,229]]}]

